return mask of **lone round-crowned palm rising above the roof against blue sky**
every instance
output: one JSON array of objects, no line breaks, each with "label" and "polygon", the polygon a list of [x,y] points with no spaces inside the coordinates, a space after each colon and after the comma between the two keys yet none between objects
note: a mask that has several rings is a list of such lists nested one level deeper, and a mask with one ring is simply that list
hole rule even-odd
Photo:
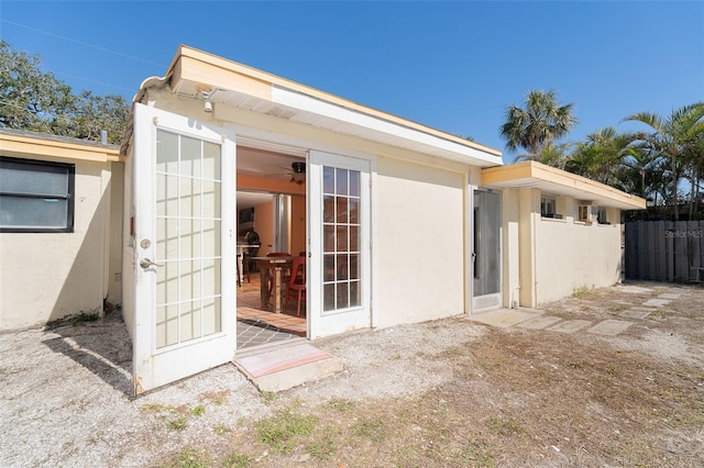
[{"label": "lone round-crowned palm rising above the roof against blue sky", "polygon": [[546,143],[564,136],[578,123],[572,115],[574,104],[560,105],[554,91],[530,90],[525,104],[525,109],[506,108],[501,134],[507,149],[527,149],[528,158],[537,157]]}]

